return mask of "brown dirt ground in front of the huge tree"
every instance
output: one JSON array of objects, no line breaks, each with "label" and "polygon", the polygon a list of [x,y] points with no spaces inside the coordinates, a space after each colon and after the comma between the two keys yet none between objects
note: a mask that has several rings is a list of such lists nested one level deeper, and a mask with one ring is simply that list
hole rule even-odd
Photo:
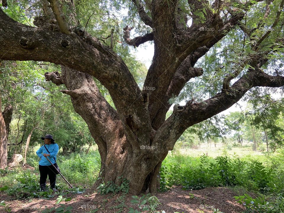
[{"label": "brown dirt ground in front of the huge tree", "polygon": [[[107,213],[128,213],[129,208],[135,205],[132,204],[130,200],[131,195],[125,196],[125,203],[123,205],[121,199],[122,194],[116,195],[99,195],[99,194],[78,194],[70,195],[72,197],[71,201],[62,201],[60,204],[65,204],[66,206],[72,206],[71,212],[107,212]],[[172,187],[170,191],[164,193],[156,193],[155,196],[159,199],[160,205],[157,210],[161,212],[164,210],[166,213],[172,212],[184,212],[184,213],[209,213],[213,212],[212,209],[219,209],[220,212],[224,213],[239,213],[244,211],[244,207],[236,203],[233,196],[236,196],[234,192],[227,188],[205,188],[202,190],[193,191],[183,191],[181,187]],[[32,212],[42,212],[47,206],[60,207],[56,204],[57,196],[54,198],[47,199],[33,199],[31,202],[28,200],[9,200],[8,196],[4,194],[0,195],[0,201],[5,200],[6,207],[0,207],[0,212],[17,212],[17,213],[32,213]],[[8,209],[9,207],[9,209]],[[55,211],[53,211],[55,212]],[[143,211],[146,213],[147,211]]]}]

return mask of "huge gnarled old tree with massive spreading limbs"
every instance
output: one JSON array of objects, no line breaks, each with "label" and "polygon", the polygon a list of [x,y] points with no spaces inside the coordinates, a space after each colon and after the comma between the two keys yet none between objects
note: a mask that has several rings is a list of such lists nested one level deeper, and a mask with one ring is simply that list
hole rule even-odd
[{"label": "huge gnarled old tree with massive spreading limbs", "polygon": [[[46,73],[45,77],[65,85],[62,92],[71,97],[99,147],[101,172],[94,189],[102,181],[119,184],[123,176],[130,180],[131,193],[156,191],[161,163],[188,127],[229,108],[253,87],[284,85],[280,71],[277,75],[265,72],[273,55],[283,51],[284,0],[133,0],[130,6],[144,22],[146,30],[141,32],[146,33],[130,38],[133,28],[125,26],[124,41],[134,47],[154,42],[143,89],[114,50],[114,30],[110,30],[110,44],[106,45],[96,33],[81,27],[83,19],[78,17],[95,1],[38,2],[44,12],[34,17],[36,27],[0,11],[0,58],[61,65],[61,73]],[[110,13],[105,20],[108,16]],[[243,43],[243,48],[231,51],[240,58],[237,66],[225,73],[220,67],[221,91],[203,101],[192,99],[185,106],[175,105],[165,120],[171,106],[168,100],[178,96],[191,78],[206,73],[195,67],[198,59],[231,32],[237,32],[235,40]],[[115,109],[100,93],[94,78],[109,91]],[[230,83],[234,78],[235,83]]]}]

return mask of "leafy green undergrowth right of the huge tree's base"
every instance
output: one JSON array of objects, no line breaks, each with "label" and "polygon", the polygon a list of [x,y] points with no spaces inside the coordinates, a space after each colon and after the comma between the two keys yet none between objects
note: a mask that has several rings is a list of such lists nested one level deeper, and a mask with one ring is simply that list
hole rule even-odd
[{"label": "leafy green undergrowth right of the huge tree's base", "polygon": [[279,164],[281,154],[265,158],[266,163],[247,157],[206,155],[198,158],[183,155],[167,156],[160,170],[160,191],[172,185],[182,185],[185,190],[217,186],[242,186],[261,193],[279,191],[284,185],[284,168]]}]

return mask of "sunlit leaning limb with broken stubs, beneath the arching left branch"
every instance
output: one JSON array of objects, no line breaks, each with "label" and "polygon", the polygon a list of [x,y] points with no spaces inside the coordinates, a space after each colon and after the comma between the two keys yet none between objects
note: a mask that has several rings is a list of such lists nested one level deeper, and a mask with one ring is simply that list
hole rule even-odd
[{"label": "sunlit leaning limb with broken stubs, beneath the arching left branch", "polygon": [[119,116],[101,95],[91,75],[64,66],[61,66],[61,70],[60,77],[58,72],[51,72],[46,73],[45,78],[57,85],[60,81],[66,86],[67,90],[61,92],[71,96],[75,111],[88,124],[100,154],[105,159],[106,147],[111,146],[111,141],[115,139],[114,130],[123,131]]}]

